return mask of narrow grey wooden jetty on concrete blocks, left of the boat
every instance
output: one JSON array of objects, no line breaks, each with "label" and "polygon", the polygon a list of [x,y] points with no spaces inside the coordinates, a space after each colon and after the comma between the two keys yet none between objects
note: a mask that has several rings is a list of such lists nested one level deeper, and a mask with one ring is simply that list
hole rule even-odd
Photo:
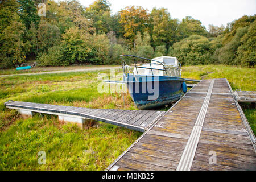
[{"label": "narrow grey wooden jetty on concrete blocks, left of the boat", "polygon": [[164,113],[152,110],[89,109],[19,101],[5,102],[5,106],[23,112],[55,114],[59,115],[59,118],[61,116],[64,120],[70,119],[74,122],[77,122],[76,118],[93,119],[141,132],[146,131]]}]

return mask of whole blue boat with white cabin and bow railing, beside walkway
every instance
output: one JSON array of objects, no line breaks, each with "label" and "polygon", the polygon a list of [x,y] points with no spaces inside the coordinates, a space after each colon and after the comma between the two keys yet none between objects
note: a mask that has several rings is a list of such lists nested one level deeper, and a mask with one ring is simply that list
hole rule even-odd
[{"label": "whole blue boat with white cabin and bow railing, beside walkway", "polygon": [[[187,92],[181,65],[176,57],[147,59],[133,55],[121,55],[123,82],[138,109],[149,110],[170,105]],[[126,60],[125,60],[126,59]],[[126,64],[134,61],[134,69]],[[138,63],[150,62],[139,65]]]}]

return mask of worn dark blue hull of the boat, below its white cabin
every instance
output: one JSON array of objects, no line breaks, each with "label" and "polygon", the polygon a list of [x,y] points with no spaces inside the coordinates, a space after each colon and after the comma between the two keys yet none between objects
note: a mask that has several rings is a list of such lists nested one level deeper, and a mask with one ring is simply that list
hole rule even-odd
[{"label": "worn dark blue hull of the boat, below its white cabin", "polygon": [[[135,79],[136,77],[136,79]],[[183,78],[128,75],[126,85],[138,109],[150,110],[171,104],[182,96]]]}]

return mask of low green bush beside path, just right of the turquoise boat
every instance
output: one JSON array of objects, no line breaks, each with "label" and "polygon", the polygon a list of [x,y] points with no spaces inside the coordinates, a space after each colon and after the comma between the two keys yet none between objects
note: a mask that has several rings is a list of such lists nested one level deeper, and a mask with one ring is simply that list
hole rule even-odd
[{"label": "low green bush beside path, just right of the turquoise boat", "polygon": [[49,48],[48,53],[43,52],[38,55],[38,65],[40,66],[60,66],[68,65],[68,61],[61,61],[63,56],[61,48],[59,46],[53,46]]}]

